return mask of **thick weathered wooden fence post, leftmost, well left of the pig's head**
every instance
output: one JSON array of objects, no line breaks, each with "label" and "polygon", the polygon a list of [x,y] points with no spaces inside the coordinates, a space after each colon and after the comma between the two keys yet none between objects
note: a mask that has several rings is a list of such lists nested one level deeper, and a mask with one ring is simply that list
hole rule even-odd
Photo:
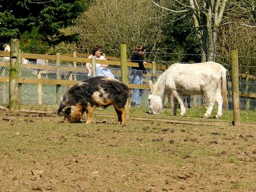
[{"label": "thick weathered wooden fence post, leftmost, well left of the pig's head", "polygon": [[18,64],[19,64],[19,39],[11,39],[10,43],[10,78],[9,78],[9,104],[11,111],[19,111],[18,94]]}]

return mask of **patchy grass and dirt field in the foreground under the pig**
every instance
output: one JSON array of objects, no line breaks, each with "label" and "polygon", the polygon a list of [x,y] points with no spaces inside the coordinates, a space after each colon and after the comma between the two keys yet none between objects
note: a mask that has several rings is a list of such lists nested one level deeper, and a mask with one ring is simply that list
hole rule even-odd
[{"label": "patchy grass and dirt field in the foreground under the pig", "polygon": [[0,191],[255,191],[255,126],[0,110]]}]

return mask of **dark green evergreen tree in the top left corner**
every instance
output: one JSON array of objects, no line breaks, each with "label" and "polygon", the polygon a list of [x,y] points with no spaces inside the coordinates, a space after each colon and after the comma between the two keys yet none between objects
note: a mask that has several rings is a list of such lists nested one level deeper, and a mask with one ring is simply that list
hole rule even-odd
[{"label": "dark green evergreen tree in the top left corner", "polygon": [[[78,15],[87,9],[86,0],[2,0],[0,1],[0,42],[21,38],[32,32],[39,41],[59,42],[73,40],[61,29],[74,25]],[[37,28],[37,30],[35,30]],[[27,34],[26,34],[27,35]],[[31,37],[30,37],[31,38]],[[29,45],[31,39],[24,38]]]}]

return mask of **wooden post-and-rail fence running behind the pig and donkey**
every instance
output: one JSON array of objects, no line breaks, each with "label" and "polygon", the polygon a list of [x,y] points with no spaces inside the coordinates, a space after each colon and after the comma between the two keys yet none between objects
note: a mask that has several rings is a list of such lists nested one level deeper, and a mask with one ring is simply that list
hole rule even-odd
[{"label": "wooden post-and-rail fence running behind the pig and donkey", "polygon": [[[17,47],[17,46],[16,46]],[[11,46],[12,48],[12,46]],[[17,54],[18,52],[18,54]],[[106,60],[97,60],[97,63],[100,64],[109,64],[109,65],[116,65],[116,66],[120,66],[121,67],[121,71],[120,71],[120,75],[122,77],[122,81],[127,84],[127,86],[129,88],[141,88],[141,89],[149,89],[150,86],[148,84],[143,84],[143,85],[135,85],[135,84],[129,84],[127,81],[127,67],[133,67],[133,66],[138,66],[138,63],[133,63],[131,62],[131,60],[127,59],[126,56],[126,45],[121,45],[120,46],[120,52],[121,52],[121,57],[120,58],[115,58],[115,57],[108,57],[105,56]],[[11,73],[11,65],[16,66],[16,63],[20,63],[20,61],[22,60],[21,58],[27,58],[27,59],[41,59],[41,60],[53,60],[56,62],[56,65],[48,65],[47,62],[45,65],[35,65],[35,64],[22,64],[22,66],[24,68],[28,68],[28,69],[40,69],[41,71],[38,73],[37,75],[37,79],[28,79],[28,78],[16,78],[16,82],[14,83],[15,85],[13,88],[13,91],[11,91],[10,89],[10,94],[17,94],[17,85],[18,83],[29,83],[29,84],[37,84],[38,85],[38,103],[41,103],[41,85],[42,84],[51,84],[51,85],[74,85],[75,83],[77,83],[78,81],[76,81],[75,79],[69,78],[69,80],[61,80],[60,78],[60,74],[59,71],[74,71],[74,72],[83,72],[83,73],[87,73],[87,69],[85,68],[80,68],[77,67],[77,63],[92,63],[93,67],[96,66],[96,59],[92,58],[92,59],[88,59],[89,54],[81,54],[81,53],[72,53],[72,54],[56,54],[56,55],[42,55],[42,54],[29,54],[29,53],[20,53],[20,51],[15,50],[14,51],[14,55],[12,55],[12,51],[11,53],[9,52],[4,52],[4,51],[0,51],[0,57],[11,57],[11,62],[0,62],[0,67],[10,67],[10,73]],[[122,53],[124,53],[122,55]],[[13,58],[12,58],[13,57]],[[72,66],[60,66],[61,62],[72,62],[73,65]],[[16,66],[17,67],[17,66]],[[152,76],[155,77],[156,75],[156,70],[165,70],[168,68],[167,65],[159,65],[156,64],[155,62],[148,62],[145,65],[146,68],[151,68],[152,72],[148,73],[148,76]],[[15,69],[17,70],[17,69]],[[51,79],[41,79],[40,76],[42,74],[48,74],[48,73],[55,73],[57,79],[56,80],[51,80]],[[93,74],[95,75],[95,74]],[[239,75],[239,77],[244,77],[246,78],[246,80],[248,81],[249,79],[254,79],[253,76],[249,76],[247,75]],[[156,77],[155,77],[156,78]],[[6,83],[10,83],[13,81],[12,77],[0,77],[0,82],[6,82]],[[231,91],[229,91],[227,94],[232,94],[233,93]],[[246,93],[246,92],[239,92],[238,93],[240,96],[242,97],[248,97],[248,98],[256,98],[256,94],[255,93]],[[58,97],[58,96],[57,96]],[[14,110],[14,111],[19,111],[20,107],[18,106],[17,102],[15,101],[14,104],[12,104],[13,100],[11,101],[11,96],[10,98],[10,109]],[[61,95],[59,95],[59,100],[61,98]],[[16,99],[16,96],[14,96],[14,100]],[[60,101],[59,101],[60,102]],[[12,106],[13,105],[13,106]],[[227,105],[227,101],[224,101],[224,105]],[[32,107],[35,109],[35,107]],[[48,109],[46,109],[47,107],[44,107],[45,112],[48,111]],[[37,111],[44,111],[44,109],[37,109]],[[26,111],[26,109],[24,109]],[[36,110],[34,110],[36,111]],[[139,118],[139,117],[138,117]],[[174,120],[174,119],[173,119]],[[202,122],[200,120],[200,122]]]}]

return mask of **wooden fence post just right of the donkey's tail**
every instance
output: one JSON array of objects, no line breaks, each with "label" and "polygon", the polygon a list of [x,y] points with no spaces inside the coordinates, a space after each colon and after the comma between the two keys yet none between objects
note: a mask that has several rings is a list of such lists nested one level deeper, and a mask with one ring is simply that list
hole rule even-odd
[{"label": "wooden fence post just right of the donkey's tail", "polygon": [[232,97],[233,97],[233,125],[240,126],[239,104],[239,79],[238,79],[238,50],[230,52],[232,73]]}]

